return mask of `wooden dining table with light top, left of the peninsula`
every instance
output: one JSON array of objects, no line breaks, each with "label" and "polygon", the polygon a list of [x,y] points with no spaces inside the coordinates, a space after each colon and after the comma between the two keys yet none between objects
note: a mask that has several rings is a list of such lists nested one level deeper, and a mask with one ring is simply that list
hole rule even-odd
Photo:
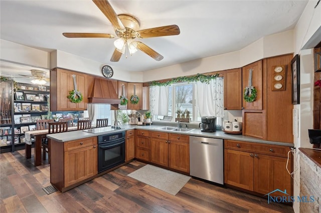
[{"label": "wooden dining table with light top, left of the peninsula", "polygon": [[[74,131],[77,130],[77,126],[71,126],[68,127],[68,131]],[[31,138],[35,139],[35,166],[42,164],[42,158],[41,158],[41,141],[42,138],[45,137],[48,134],[48,129],[42,129],[42,130],[33,130],[33,131],[26,131],[25,134],[30,134]],[[26,138],[28,136],[26,135]],[[25,143],[25,158],[30,159],[31,158],[31,148],[32,143]]]}]

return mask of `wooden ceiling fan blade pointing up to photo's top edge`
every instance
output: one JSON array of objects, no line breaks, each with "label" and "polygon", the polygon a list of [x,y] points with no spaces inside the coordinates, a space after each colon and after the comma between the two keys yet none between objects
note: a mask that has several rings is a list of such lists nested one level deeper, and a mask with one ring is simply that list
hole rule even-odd
[{"label": "wooden ceiling fan blade pointing up to photo's top edge", "polygon": [[117,13],[112,8],[108,0],[92,0],[92,1],[98,6],[98,8],[102,11],[102,13],[104,13],[104,15],[108,18],[108,20],[116,29],[125,30],[124,25],[118,18]]}]

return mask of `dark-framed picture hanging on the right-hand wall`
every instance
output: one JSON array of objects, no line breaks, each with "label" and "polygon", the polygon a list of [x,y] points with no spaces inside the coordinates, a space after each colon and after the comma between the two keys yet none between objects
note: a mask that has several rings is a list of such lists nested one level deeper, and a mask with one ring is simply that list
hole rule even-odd
[{"label": "dark-framed picture hanging on the right-hand wall", "polygon": [[300,57],[296,54],[291,60],[292,104],[300,103]]}]

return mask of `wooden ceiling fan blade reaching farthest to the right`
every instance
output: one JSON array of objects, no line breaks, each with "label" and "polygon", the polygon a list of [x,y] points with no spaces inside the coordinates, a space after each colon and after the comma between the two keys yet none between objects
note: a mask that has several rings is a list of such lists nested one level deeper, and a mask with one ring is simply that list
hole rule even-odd
[{"label": "wooden ceiling fan blade reaching farthest to the right", "polygon": [[167,25],[167,26],[158,26],[148,29],[141,29],[137,31],[139,37],[158,37],[158,36],[167,36],[167,35],[178,35],[180,34],[180,27],[178,25]]}]

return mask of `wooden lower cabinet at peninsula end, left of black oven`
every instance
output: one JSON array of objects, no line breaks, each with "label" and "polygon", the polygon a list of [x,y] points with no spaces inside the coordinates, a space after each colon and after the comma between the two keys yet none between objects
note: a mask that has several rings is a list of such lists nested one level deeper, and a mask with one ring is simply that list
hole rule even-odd
[{"label": "wooden lower cabinet at peninsula end, left of black oven", "polygon": [[51,140],[50,182],[60,191],[98,173],[97,137],[58,142]]}]

